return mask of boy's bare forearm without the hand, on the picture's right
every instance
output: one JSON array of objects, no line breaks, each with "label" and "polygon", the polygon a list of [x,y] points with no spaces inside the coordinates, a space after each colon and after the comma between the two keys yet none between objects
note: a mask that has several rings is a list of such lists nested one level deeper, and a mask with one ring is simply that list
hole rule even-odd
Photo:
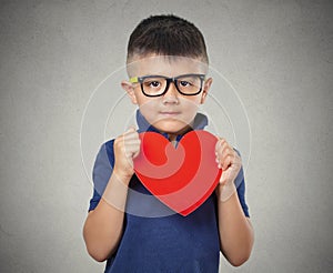
[{"label": "boy's bare forearm without the hand, on the picture's right", "polygon": [[236,192],[225,202],[219,199],[219,189],[216,194],[221,251],[232,265],[239,266],[250,257],[253,229],[250,219],[244,215]]}]

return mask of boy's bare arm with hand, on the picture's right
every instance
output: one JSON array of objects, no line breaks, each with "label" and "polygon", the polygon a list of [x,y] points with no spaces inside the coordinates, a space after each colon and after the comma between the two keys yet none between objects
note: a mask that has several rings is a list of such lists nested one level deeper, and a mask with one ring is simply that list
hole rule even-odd
[{"label": "boy's bare arm with hand, on the picture's right", "polygon": [[234,186],[241,169],[241,159],[225,140],[216,143],[216,162],[222,168],[220,184],[216,188],[220,247],[226,260],[239,266],[250,257],[254,234],[244,215]]}]

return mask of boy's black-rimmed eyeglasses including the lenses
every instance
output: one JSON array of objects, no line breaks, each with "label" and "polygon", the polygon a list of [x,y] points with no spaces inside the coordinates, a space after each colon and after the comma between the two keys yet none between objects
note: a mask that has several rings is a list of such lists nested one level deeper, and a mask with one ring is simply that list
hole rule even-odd
[{"label": "boy's black-rimmed eyeglasses including the lenses", "polygon": [[143,75],[130,79],[132,83],[140,83],[142,93],[147,97],[160,97],[168,92],[173,82],[178,92],[183,95],[195,95],[202,90],[204,74],[181,74],[173,78],[164,75]]}]

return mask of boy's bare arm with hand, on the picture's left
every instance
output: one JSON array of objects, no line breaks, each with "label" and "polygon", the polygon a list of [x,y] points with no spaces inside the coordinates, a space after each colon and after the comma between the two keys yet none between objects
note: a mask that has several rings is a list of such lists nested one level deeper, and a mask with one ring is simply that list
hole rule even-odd
[{"label": "boy's bare arm with hand, on the picture's left", "polygon": [[114,141],[114,169],[98,206],[89,212],[83,237],[89,254],[104,261],[114,253],[122,236],[128,185],[134,173],[133,158],[140,151],[135,130],[129,130]]}]

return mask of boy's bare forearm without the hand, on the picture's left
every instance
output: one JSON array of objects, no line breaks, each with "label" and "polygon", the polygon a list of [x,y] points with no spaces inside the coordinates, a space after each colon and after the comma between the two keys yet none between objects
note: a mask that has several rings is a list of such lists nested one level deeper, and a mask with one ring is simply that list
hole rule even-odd
[{"label": "boy's bare forearm without the hand, on the picture's left", "polygon": [[113,173],[98,206],[91,211],[83,228],[89,254],[97,261],[107,260],[117,249],[122,235],[128,181]]}]

